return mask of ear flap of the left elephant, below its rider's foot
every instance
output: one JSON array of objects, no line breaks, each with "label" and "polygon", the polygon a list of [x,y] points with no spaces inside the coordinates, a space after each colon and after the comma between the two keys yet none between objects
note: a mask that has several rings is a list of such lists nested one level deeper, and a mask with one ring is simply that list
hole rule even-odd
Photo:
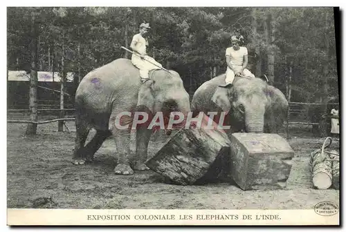
[{"label": "ear flap of the left elephant, below its rider's foot", "polygon": [[138,101],[136,110],[145,111],[145,112],[153,112],[154,107],[154,95],[152,86],[154,84],[154,80],[149,79],[145,81],[140,86],[139,92],[138,92]]}]

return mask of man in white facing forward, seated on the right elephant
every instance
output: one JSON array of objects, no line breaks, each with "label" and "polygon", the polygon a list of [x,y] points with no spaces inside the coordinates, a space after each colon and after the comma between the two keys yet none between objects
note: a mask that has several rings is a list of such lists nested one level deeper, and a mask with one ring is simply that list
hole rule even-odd
[{"label": "man in white facing forward, seated on the right elephant", "polygon": [[226,49],[226,84],[220,85],[221,87],[226,87],[233,84],[235,76],[240,77],[255,77],[253,73],[246,68],[248,65],[248,49],[244,46],[239,46],[242,43],[244,37],[235,36],[231,37],[232,47]]}]

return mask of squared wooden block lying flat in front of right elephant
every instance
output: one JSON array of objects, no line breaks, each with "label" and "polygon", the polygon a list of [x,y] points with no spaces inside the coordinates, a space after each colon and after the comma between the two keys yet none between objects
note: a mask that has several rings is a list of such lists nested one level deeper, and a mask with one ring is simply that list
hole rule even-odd
[{"label": "squared wooden block lying flat in front of right elephant", "polygon": [[277,134],[233,133],[230,135],[230,177],[249,189],[282,189],[291,172],[294,152]]}]

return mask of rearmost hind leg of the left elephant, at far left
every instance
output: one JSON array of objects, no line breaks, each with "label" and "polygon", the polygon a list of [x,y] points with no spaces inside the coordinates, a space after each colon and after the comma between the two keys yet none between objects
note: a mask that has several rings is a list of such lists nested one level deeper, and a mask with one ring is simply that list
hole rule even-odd
[{"label": "rearmost hind leg of the left elephant, at far left", "polygon": [[79,117],[76,117],[76,135],[75,135],[75,150],[73,152],[73,164],[84,164],[84,144],[86,137],[88,137],[90,127],[82,121]]}]

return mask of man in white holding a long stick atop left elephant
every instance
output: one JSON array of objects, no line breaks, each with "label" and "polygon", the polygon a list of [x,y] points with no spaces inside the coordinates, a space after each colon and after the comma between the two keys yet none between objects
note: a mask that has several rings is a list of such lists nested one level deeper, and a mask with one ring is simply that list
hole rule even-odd
[{"label": "man in white holding a long stick atop left elephant", "polygon": [[150,28],[149,23],[142,23],[139,28],[139,33],[134,35],[130,45],[130,48],[136,53],[132,54],[131,61],[139,69],[142,82],[145,82],[149,79],[149,70],[160,69],[162,65],[147,55],[146,50],[149,43],[145,39],[145,35]]}]

